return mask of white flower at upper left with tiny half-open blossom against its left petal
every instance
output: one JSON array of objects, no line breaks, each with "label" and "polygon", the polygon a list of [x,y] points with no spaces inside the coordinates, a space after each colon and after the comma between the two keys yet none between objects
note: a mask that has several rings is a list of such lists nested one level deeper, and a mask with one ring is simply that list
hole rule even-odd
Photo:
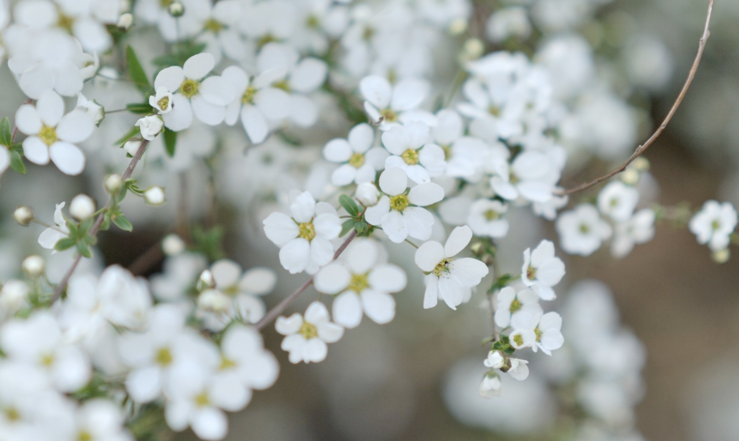
[{"label": "white flower at upper left with tiny half-open blossom against its left petal", "polygon": [[226,105],[234,100],[236,91],[222,77],[202,79],[211,72],[214,65],[213,55],[201,53],[188,58],[183,67],[162,69],[157,78],[154,78],[157,96],[165,90],[173,94],[171,100],[168,100],[171,112],[162,115],[168,129],[187,129],[192,124],[193,114],[210,126],[223,122]]}]

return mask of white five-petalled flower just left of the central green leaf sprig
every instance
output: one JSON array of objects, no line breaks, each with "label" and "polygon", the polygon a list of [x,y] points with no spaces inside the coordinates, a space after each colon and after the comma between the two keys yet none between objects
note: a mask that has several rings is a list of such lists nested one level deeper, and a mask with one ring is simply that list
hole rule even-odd
[{"label": "white five-petalled flower just left of the central green leaf sprig", "polygon": [[280,247],[279,260],[291,274],[308,271],[315,273],[319,267],[333,259],[330,242],[341,233],[341,219],[336,210],[325,202],[319,202],[305,191],[290,205],[292,217],[272,213],[262,222],[265,234]]}]

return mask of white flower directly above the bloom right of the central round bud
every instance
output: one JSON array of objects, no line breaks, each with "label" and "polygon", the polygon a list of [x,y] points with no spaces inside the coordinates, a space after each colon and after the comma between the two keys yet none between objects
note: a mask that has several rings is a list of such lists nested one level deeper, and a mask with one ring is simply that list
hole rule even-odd
[{"label": "white flower directly above the bloom right of the central round bud", "polygon": [[427,144],[429,126],[412,121],[404,126],[394,126],[382,134],[382,143],[392,153],[385,160],[385,168],[399,167],[413,182],[422,184],[432,177],[441,176],[446,168],[443,148]]}]

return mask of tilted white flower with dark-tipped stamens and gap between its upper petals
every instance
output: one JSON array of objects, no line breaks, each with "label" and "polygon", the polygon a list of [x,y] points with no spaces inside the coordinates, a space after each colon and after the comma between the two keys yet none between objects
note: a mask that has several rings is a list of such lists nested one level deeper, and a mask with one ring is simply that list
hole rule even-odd
[{"label": "tilted white flower with dark-tipped stamens and gap between its upper petals", "polygon": [[457,227],[449,234],[446,244],[429,241],[418,247],[415,263],[425,273],[426,293],[423,295],[423,307],[436,306],[438,298],[456,310],[464,298],[469,298],[471,288],[480,284],[488,275],[488,267],[477,259],[457,256],[472,239],[472,230],[468,226]]}]

